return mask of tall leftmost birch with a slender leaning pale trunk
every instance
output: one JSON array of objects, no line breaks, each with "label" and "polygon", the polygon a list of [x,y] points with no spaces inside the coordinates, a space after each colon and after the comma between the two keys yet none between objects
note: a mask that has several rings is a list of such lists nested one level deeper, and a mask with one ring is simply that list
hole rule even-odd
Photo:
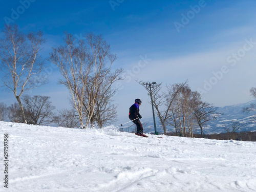
[{"label": "tall leftmost birch with a slender leaning pale trunk", "polygon": [[24,91],[47,82],[46,76],[42,75],[45,62],[39,55],[45,42],[42,35],[41,31],[26,35],[19,31],[17,25],[5,25],[4,38],[0,39],[0,69],[5,74],[2,81],[14,93],[25,123],[27,120],[20,96]]}]

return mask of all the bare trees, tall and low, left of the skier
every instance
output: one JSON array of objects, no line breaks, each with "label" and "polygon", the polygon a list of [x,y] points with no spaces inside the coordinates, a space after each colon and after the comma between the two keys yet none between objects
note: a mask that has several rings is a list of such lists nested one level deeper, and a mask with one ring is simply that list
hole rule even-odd
[{"label": "all the bare trees, tall and low, left of the skier", "polygon": [[[112,104],[112,98],[117,89],[113,89],[112,84],[121,79],[123,70],[111,71],[117,57],[101,35],[88,33],[77,42],[72,34],[66,33],[65,45],[53,48],[48,58],[63,76],[59,83],[70,90],[72,110],[62,110],[50,120],[48,117],[53,116],[55,108],[49,97],[22,97],[26,90],[48,81],[44,74],[45,59],[39,54],[45,42],[42,36],[40,31],[24,34],[17,25],[4,28],[4,38],[0,39],[0,69],[5,74],[2,81],[17,99],[17,103],[8,108],[9,119],[33,124],[55,122],[67,127],[77,126],[75,119],[78,119],[83,128],[113,122],[117,105]],[[0,108],[7,109],[6,106]],[[0,111],[1,119],[6,118],[3,114]]]}]

